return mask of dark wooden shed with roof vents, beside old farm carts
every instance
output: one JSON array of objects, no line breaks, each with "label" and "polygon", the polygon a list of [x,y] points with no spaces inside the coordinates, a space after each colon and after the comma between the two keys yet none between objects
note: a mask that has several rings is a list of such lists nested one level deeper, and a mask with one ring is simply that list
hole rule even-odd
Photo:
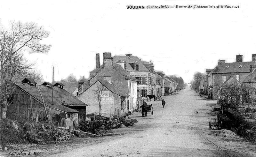
[{"label": "dark wooden shed with roof vents, beside old farm carts", "polygon": [[[21,82],[14,82],[13,84],[15,90],[9,100],[12,103],[7,107],[7,118],[33,122],[33,117],[34,119],[38,117],[38,121],[45,122],[47,121],[45,104],[50,122],[58,121],[67,129],[73,128],[73,121],[85,122],[87,105],[63,88],[52,86],[49,82],[37,85],[31,78],[25,78]],[[78,110],[74,109],[76,107],[81,108],[83,112],[79,113]]]}]

